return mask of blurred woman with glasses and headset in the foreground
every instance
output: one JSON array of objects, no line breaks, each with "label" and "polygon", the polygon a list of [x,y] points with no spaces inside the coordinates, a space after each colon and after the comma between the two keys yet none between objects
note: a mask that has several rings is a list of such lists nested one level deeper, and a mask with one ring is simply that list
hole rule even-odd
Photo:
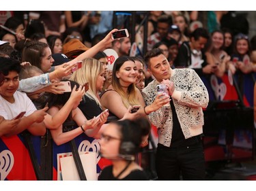
[{"label": "blurred woman with glasses and headset in the foreground", "polygon": [[134,161],[141,151],[142,137],[150,132],[147,118],[111,122],[102,132],[100,154],[112,161],[100,173],[99,180],[147,180],[143,169]]}]

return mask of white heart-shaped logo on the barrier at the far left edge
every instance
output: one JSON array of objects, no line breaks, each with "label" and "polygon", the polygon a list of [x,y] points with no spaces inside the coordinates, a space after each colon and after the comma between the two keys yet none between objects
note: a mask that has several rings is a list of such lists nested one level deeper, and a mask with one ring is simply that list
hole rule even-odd
[{"label": "white heart-shaped logo on the barrier at the far left edge", "polygon": [[0,153],[0,179],[4,180],[14,166],[14,156],[10,150],[3,150]]}]

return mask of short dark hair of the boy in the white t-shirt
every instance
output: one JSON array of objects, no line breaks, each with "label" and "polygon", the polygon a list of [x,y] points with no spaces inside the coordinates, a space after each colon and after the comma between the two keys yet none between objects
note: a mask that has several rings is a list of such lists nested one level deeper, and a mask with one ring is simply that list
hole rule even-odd
[{"label": "short dark hair of the boy in the white t-shirt", "polygon": [[20,73],[20,62],[13,58],[0,57],[0,71],[3,75],[8,75],[10,71]]}]

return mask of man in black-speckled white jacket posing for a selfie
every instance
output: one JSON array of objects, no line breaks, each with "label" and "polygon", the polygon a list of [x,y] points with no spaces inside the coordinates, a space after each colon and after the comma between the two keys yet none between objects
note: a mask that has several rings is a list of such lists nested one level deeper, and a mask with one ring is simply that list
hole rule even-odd
[{"label": "man in black-speckled white jacket posing for a selfie", "polygon": [[[162,50],[145,55],[147,70],[154,75],[142,91],[145,114],[158,128],[156,172],[158,179],[205,179],[203,107],[209,96],[205,85],[193,69],[171,69]],[[165,84],[171,96],[170,106],[152,111],[158,84]]]}]

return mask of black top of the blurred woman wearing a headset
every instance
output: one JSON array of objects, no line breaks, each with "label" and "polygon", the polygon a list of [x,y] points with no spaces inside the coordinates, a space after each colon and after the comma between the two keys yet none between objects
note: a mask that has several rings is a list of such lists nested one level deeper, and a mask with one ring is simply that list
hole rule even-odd
[{"label": "black top of the blurred woman wearing a headset", "polygon": [[116,177],[114,177],[112,171],[113,165],[105,167],[100,173],[98,180],[149,180],[147,174],[139,169],[132,171],[123,179],[117,179]]}]

